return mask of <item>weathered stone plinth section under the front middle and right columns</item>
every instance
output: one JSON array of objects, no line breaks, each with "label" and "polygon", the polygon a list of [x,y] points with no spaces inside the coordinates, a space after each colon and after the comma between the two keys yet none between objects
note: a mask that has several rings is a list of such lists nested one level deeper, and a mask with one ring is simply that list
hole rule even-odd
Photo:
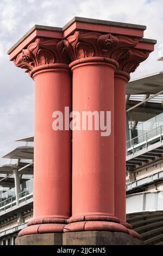
[{"label": "weathered stone plinth section under the front middle and right columns", "polygon": [[63,245],[143,245],[140,239],[118,232],[80,231],[62,236]]}]

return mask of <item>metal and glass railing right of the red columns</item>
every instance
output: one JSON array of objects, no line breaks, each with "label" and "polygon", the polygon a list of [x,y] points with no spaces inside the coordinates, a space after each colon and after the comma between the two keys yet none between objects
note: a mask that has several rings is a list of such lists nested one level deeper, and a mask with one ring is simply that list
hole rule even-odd
[{"label": "metal and glass railing right of the red columns", "polygon": [[[148,149],[148,147],[156,142],[162,142],[163,139],[163,125],[160,125],[152,130],[149,130],[142,135],[130,139],[126,142],[127,155],[131,155],[141,149]],[[142,141],[139,143],[139,141]]]}]

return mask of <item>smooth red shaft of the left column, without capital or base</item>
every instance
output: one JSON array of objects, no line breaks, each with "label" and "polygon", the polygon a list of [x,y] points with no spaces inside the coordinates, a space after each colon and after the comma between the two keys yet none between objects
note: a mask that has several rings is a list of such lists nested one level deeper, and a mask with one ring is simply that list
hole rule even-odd
[{"label": "smooth red shaft of the left column, without capital or base", "polygon": [[34,218],[71,214],[71,131],[52,128],[54,111],[71,109],[68,65],[33,70],[35,81]]}]

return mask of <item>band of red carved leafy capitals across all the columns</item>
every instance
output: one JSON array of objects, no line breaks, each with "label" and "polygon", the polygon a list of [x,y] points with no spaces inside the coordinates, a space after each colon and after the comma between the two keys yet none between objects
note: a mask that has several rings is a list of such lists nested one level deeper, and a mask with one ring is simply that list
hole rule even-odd
[{"label": "band of red carved leafy capitals across all the columns", "polygon": [[31,71],[45,64],[70,64],[87,57],[106,57],[116,60],[119,70],[130,73],[149,56],[149,51],[135,48],[138,43],[139,38],[132,36],[76,31],[63,40],[37,38],[18,54],[14,64]]}]

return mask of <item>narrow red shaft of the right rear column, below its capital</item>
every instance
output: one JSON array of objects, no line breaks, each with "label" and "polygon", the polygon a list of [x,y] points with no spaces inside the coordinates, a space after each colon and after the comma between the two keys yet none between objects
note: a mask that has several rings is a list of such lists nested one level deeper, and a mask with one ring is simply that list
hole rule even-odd
[{"label": "narrow red shaft of the right rear column, below its capital", "polygon": [[123,224],[126,224],[126,84],[129,79],[126,72],[115,72],[115,216]]}]

